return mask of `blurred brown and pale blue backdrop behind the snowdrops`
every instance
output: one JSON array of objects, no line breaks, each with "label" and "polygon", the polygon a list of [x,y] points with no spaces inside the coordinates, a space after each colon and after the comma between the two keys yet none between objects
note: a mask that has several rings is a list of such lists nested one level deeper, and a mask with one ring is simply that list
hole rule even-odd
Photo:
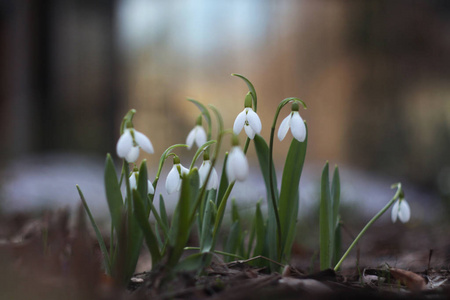
[{"label": "blurred brown and pale blue backdrop behind the snowdrops", "polygon": [[[137,110],[154,174],[195,125],[186,98],[232,127],[247,87],[231,73],[253,82],[266,139],[282,99],[308,104],[302,197],[317,201],[329,160],[344,198],[384,203],[398,181],[412,202],[450,198],[449,1],[2,0],[0,44],[4,210],[78,204],[75,184],[101,207],[123,115]],[[289,139],[275,142],[279,172]],[[256,174],[252,146],[249,158]],[[264,197],[260,178],[236,189],[253,184]]]}]

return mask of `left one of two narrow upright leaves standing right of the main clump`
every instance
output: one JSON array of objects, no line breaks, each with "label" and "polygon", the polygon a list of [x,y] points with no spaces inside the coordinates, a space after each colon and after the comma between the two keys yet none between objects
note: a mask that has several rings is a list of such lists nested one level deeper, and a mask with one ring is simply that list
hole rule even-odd
[{"label": "left one of two narrow upright leaves standing right of the main clump", "polygon": [[320,231],[320,269],[325,270],[331,267],[332,232],[330,226],[331,197],[330,197],[330,179],[328,175],[328,162],[322,171],[320,184],[320,213],[319,213],[319,231]]}]

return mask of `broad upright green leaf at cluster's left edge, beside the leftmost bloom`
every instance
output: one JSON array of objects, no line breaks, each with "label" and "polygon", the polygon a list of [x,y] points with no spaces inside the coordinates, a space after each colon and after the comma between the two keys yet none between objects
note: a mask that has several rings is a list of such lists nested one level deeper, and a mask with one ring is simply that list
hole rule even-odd
[{"label": "broad upright green leaf at cluster's left edge, beside the leftmost bloom", "polygon": [[116,169],[109,154],[106,155],[105,162],[105,191],[111,222],[118,232],[121,228],[123,199],[119,182],[117,181]]}]

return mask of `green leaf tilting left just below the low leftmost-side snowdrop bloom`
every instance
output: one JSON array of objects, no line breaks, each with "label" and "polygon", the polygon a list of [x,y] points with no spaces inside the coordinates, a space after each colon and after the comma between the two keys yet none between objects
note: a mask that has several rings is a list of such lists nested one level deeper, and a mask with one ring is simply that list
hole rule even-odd
[{"label": "green leaf tilting left just below the low leftmost-side snowdrop bloom", "polygon": [[152,266],[156,266],[161,260],[161,253],[159,252],[158,248],[158,240],[148,222],[148,218],[145,213],[144,202],[142,201],[140,193],[136,190],[133,190],[133,204],[135,208],[134,216],[139,227],[144,233],[145,243],[150,250],[150,254],[152,257]]}]

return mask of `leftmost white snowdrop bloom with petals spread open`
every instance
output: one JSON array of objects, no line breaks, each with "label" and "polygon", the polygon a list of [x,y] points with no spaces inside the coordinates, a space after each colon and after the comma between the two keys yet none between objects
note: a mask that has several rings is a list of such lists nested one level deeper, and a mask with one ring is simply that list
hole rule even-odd
[{"label": "leftmost white snowdrop bloom with petals spread open", "polygon": [[147,153],[154,152],[148,137],[134,128],[126,128],[117,142],[117,155],[125,158],[128,162],[135,162],[139,157],[139,148],[142,148]]}]

